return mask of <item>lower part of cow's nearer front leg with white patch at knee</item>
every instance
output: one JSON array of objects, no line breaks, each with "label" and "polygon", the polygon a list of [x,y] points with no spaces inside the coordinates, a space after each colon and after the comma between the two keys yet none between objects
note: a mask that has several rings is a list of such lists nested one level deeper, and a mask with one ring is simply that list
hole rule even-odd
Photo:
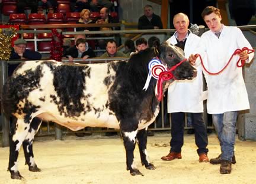
[{"label": "lower part of cow's nearer front leg with white patch at knee", "polygon": [[134,155],[133,155],[133,152],[135,150],[135,144],[136,144],[135,137],[137,134],[137,130],[132,132],[121,132],[121,133],[123,136],[124,147],[126,149],[126,169],[130,170],[130,174],[132,176],[142,175],[142,173],[137,169],[137,166],[134,160]]}]

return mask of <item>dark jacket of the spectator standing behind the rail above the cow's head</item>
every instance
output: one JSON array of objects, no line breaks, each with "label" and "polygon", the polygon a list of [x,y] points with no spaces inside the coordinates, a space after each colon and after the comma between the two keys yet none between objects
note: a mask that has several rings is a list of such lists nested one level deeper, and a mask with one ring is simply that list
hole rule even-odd
[{"label": "dark jacket of the spectator standing behind the rail above the cow's head", "polygon": [[154,26],[162,29],[162,20],[158,15],[153,14],[151,21],[149,21],[146,15],[139,18],[138,29],[153,29]]}]

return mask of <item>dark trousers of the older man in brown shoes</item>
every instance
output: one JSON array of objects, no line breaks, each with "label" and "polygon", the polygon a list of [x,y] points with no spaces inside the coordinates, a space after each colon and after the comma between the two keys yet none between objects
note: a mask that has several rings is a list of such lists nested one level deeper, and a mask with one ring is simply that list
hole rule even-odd
[{"label": "dark trousers of the older man in brown shoes", "polygon": [[[198,147],[197,154],[208,153],[208,137],[203,121],[203,113],[191,113],[191,122],[194,127],[195,141]],[[184,143],[185,113],[171,113],[171,152],[181,152]]]}]

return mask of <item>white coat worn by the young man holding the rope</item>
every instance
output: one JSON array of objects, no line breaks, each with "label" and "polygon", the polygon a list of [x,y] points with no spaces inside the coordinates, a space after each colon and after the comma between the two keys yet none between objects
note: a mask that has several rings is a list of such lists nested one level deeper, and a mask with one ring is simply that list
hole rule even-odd
[{"label": "white coat worn by the young man holding the rope", "polygon": [[[196,53],[203,57],[207,70],[217,73],[228,63],[233,52],[237,48],[242,49],[243,47],[252,49],[242,31],[236,27],[223,26],[219,39],[212,31],[207,31],[201,35]],[[247,63],[253,57],[254,53],[252,52],[252,54],[249,54]],[[249,109],[248,94],[242,76],[242,68],[236,66],[238,60],[239,55],[235,55],[228,67],[218,75],[209,75],[203,70],[208,87],[208,113],[219,114],[227,111]],[[201,65],[199,59],[197,59],[196,64]]]}]

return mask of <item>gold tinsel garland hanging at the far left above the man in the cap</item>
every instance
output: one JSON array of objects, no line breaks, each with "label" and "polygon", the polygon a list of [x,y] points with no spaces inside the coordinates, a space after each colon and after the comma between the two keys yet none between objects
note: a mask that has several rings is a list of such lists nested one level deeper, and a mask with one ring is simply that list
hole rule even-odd
[{"label": "gold tinsel garland hanging at the far left above the man in the cap", "polygon": [[[11,55],[11,39],[17,35],[15,28],[8,28],[9,31],[4,31],[0,28],[0,60],[9,60]],[[5,33],[5,32],[8,32]]]}]

